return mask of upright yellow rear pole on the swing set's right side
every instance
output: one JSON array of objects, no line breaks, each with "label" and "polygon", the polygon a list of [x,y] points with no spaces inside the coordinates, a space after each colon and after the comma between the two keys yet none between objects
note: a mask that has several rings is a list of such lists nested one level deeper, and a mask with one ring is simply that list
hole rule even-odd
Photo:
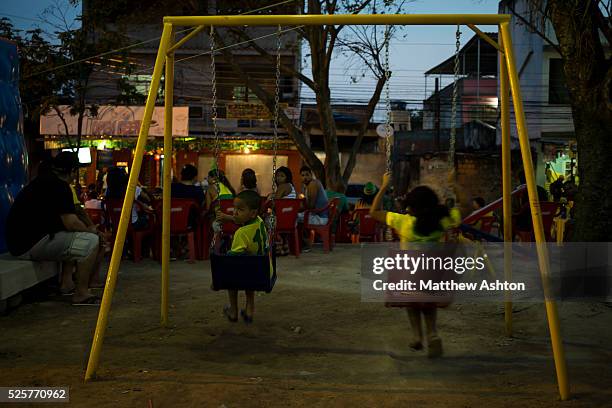
[{"label": "upright yellow rear pole on the swing set's right side", "polygon": [[[500,48],[503,42],[500,38]],[[501,107],[502,128],[502,190],[504,214],[504,279],[512,281],[512,203],[511,203],[511,155],[510,155],[510,95],[508,94],[508,68],[504,54],[499,54],[499,98]],[[506,336],[512,336],[512,300],[511,293],[505,293],[504,322]]]}]

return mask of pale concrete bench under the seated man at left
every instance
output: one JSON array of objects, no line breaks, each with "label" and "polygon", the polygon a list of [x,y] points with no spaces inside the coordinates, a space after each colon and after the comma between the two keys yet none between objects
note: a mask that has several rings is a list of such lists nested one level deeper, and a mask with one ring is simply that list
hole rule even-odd
[{"label": "pale concrete bench under the seated man at left", "polygon": [[20,303],[20,293],[56,276],[58,262],[22,261],[8,253],[0,254],[0,311]]}]

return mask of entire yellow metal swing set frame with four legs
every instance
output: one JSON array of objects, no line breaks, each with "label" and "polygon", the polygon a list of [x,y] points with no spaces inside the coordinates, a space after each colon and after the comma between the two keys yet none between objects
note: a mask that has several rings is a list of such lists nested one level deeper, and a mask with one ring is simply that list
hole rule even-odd
[{"label": "entire yellow metal swing set frame with four legs", "polygon": [[[503,174],[503,219],[504,219],[504,241],[506,250],[504,252],[504,269],[506,280],[511,279],[511,255],[509,244],[512,242],[511,230],[511,204],[510,204],[510,106],[509,91],[512,94],[516,126],[519,137],[521,157],[527,181],[527,192],[531,209],[533,229],[535,232],[538,264],[544,288],[545,306],[548,318],[548,326],[553,349],[555,369],[557,373],[557,384],[562,400],[569,398],[569,384],[567,377],[567,366],[565,352],[561,338],[559,316],[557,306],[552,297],[549,296],[550,261],[546,247],[546,239],[542,224],[542,214],[536,190],[535,173],[529,146],[529,137],[525,123],[525,113],[519,77],[516,70],[516,62],[510,35],[510,15],[506,14],[374,14],[374,15],[266,15],[266,16],[193,16],[193,17],[165,17],[164,28],[161,36],[153,76],[147,96],[144,117],[138,134],[138,142],[134,153],[129,183],[126,191],[121,220],[117,230],[113,253],[111,256],[106,286],[98,321],[93,337],[85,381],[92,379],[99,366],[104,333],[108,324],[108,315],[112,303],[117,273],[121,262],[121,254],[128,227],[128,220],[134,202],[134,192],[138,181],[138,175],[142,164],[151,117],[155,106],[157,90],[165,66],[165,105],[164,105],[164,154],[172,157],[172,105],[174,84],[174,52],[183,44],[203,31],[206,27],[222,26],[307,26],[307,25],[466,25],[499,51],[500,55],[500,105],[502,124],[502,174]],[[499,42],[494,41],[477,25],[497,25],[501,33]],[[175,42],[176,27],[195,27],[181,40]],[[164,186],[169,186],[170,166],[164,166]],[[170,189],[163,190],[163,216],[162,216],[162,291],[161,291],[161,325],[168,324],[168,283],[170,265]],[[506,334],[512,333],[512,303],[509,297],[505,302],[505,329]]]}]

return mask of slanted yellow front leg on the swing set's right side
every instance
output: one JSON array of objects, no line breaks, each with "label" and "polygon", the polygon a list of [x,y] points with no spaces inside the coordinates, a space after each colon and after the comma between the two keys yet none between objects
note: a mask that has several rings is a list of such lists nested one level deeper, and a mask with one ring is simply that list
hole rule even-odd
[{"label": "slanted yellow front leg on the swing set's right side", "polygon": [[525,113],[523,111],[523,100],[521,97],[520,83],[514,61],[514,52],[512,50],[512,38],[510,36],[509,24],[500,24],[500,29],[510,80],[510,89],[512,91],[512,101],[514,103],[514,115],[516,118],[516,127],[521,146],[521,156],[523,159],[523,167],[527,181],[527,192],[529,194],[529,205],[531,207],[531,219],[536,238],[538,263],[540,266],[540,275],[542,277],[542,287],[544,288],[544,301],[546,305],[546,314],[548,316],[548,328],[550,330],[550,339],[555,359],[555,368],[557,371],[557,383],[559,386],[559,394],[561,399],[566,400],[569,398],[570,392],[567,377],[567,365],[565,361],[565,351],[563,349],[563,340],[561,339],[561,328],[559,325],[557,305],[550,292],[550,263],[548,259],[548,249],[546,247],[546,239],[544,237],[542,213],[540,211],[540,203],[538,201],[538,191],[535,173],[533,171],[533,162],[531,160],[529,136],[527,135]]}]

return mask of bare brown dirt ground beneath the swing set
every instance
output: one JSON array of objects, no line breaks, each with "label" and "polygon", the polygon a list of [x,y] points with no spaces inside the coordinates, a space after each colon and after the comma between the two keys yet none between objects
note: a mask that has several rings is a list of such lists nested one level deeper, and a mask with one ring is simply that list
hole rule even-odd
[{"label": "bare brown dirt ground beneath the swing set", "polygon": [[439,314],[445,355],[430,360],[407,347],[402,310],[360,301],[355,246],[280,258],[251,326],[222,316],[209,268],[171,263],[162,329],[161,267],[124,261],[87,384],[97,307],[55,298],[0,317],[0,386],[67,385],[78,407],[612,407],[612,308],[601,303],[559,304],[572,391],[560,402],[543,304],[515,305],[513,338],[501,305],[453,304]]}]

